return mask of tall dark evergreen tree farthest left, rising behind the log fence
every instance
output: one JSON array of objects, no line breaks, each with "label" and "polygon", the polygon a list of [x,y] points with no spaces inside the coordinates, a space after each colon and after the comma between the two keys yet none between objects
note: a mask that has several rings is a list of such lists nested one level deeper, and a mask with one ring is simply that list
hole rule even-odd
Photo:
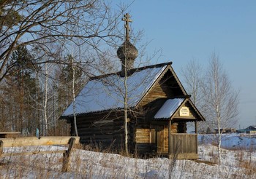
[{"label": "tall dark evergreen tree farthest left, rising behind the log fence", "polygon": [[13,108],[10,115],[12,130],[31,133],[36,128],[34,100],[38,98],[38,84],[35,71],[39,67],[33,64],[33,57],[24,46],[12,53],[9,66],[12,70],[7,78],[6,90],[12,94],[9,99]]}]

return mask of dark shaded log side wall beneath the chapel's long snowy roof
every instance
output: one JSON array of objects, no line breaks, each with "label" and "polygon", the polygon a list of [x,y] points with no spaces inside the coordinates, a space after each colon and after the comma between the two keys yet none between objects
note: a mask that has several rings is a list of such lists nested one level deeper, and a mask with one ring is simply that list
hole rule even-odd
[{"label": "dark shaded log side wall beneath the chapel's long snowy roof", "polygon": [[[99,149],[113,148],[121,151],[124,147],[124,119],[121,114],[102,113],[98,116],[78,117],[78,135],[80,142],[92,144]],[[97,118],[96,118],[97,117]],[[128,119],[129,120],[129,119]],[[130,120],[129,120],[130,121]],[[128,142],[131,148],[134,148],[134,124],[128,122]],[[72,125],[72,134],[74,135],[74,126]]]}]

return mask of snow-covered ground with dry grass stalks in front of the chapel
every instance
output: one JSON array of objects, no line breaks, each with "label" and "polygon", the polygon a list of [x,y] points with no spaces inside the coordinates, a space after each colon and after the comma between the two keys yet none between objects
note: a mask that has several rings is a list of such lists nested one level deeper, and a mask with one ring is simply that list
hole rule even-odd
[{"label": "snow-covered ground with dry grass stalks in front of the chapel", "polygon": [[71,172],[60,172],[61,154],[12,156],[0,159],[0,178],[256,178],[256,151],[251,147],[255,146],[256,135],[226,135],[228,140],[223,140],[223,146],[233,149],[222,149],[222,164],[217,164],[217,147],[211,144],[211,138],[211,135],[198,136],[198,161],[135,159],[75,149]]}]

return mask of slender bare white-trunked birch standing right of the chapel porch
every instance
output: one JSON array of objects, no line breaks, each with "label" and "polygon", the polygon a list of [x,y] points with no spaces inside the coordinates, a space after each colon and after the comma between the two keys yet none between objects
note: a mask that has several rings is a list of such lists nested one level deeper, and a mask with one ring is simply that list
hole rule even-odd
[{"label": "slender bare white-trunked birch standing right of the chapel porch", "polygon": [[225,73],[218,55],[213,53],[203,85],[207,110],[204,115],[210,127],[218,129],[218,151],[221,163],[222,128],[231,127],[238,116],[238,92],[233,90],[230,79]]}]

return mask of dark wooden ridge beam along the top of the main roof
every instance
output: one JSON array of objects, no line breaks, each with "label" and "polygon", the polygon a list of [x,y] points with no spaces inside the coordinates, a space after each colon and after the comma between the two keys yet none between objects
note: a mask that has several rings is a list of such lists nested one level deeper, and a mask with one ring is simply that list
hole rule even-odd
[{"label": "dark wooden ridge beam along the top of the main roof", "polygon": [[[132,73],[135,73],[135,71],[142,71],[142,70],[145,70],[145,69],[148,69],[148,68],[158,68],[158,67],[162,67],[164,65],[172,65],[172,64],[173,64],[173,62],[170,61],[170,62],[167,62],[167,63],[158,63],[158,64],[155,64],[155,65],[142,66],[142,67],[139,67],[139,68],[132,68],[131,70],[127,71],[127,73],[129,75],[131,75]],[[99,75],[99,76],[91,76],[89,78],[89,80],[102,79],[104,77],[114,75],[114,74],[117,74],[118,76],[121,76],[121,71],[114,72],[114,73],[107,73],[107,74],[103,74],[103,75]]]}]

